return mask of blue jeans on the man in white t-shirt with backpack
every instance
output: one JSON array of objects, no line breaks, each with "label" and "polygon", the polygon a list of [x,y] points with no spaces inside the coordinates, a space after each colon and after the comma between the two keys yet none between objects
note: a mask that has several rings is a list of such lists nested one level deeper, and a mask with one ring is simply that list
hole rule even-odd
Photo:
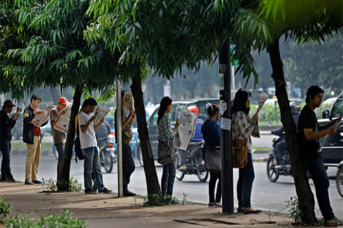
[{"label": "blue jeans on the man in white t-shirt with backpack", "polygon": [[104,190],[102,181],[102,168],[100,167],[99,150],[97,147],[82,149],[84,155],[84,190],[92,190],[92,172],[94,172],[97,190]]}]

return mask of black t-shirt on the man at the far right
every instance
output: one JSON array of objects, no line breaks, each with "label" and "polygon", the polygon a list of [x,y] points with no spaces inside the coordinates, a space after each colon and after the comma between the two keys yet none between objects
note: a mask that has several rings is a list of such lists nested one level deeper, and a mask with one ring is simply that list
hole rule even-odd
[{"label": "black t-shirt on the man at the far right", "polygon": [[305,138],[304,128],[318,131],[316,114],[312,112],[307,105],[301,110],[298,119],[299,153],[302,160],[314,160],[317,157],[320,157],[320,153],[317,152],[319,149],[319,140],[307,140]]}]

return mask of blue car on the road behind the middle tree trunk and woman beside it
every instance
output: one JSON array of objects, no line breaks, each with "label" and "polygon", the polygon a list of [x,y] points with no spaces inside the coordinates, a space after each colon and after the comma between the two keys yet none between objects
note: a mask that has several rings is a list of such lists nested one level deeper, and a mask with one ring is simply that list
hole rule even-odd
[{"label": "blue car on the road behind the middle tree trunk and woman beside it", "polygon": [[[180,112],[186,112],[187,107],[189,105],[196,105],[200,112],[198,118],[201,118],[205,121],[207,118],[206,104],[215,102],[219,102],[219,99],[191,99],[185,101],[174,101],[173,103],[171,103],[171,112],[169,114],[171,118],[171,124],[174,125],[176,123],[176,120],[178,119],[178,114],[180,114]],[[150,144],[152,147],[152,154],[154,155],[154,160],[157,160],[158,147],[157,112],[158,105],[156,105],[154,112],[152,112],[150,118],[148,118],[147,120],[147,130],[149,132]],[[139,142],[139,140],[137,140],[136,155],[137,159],[139,160],[139,164],[143,166],[143,157],[141,155],[141,143]]]}]

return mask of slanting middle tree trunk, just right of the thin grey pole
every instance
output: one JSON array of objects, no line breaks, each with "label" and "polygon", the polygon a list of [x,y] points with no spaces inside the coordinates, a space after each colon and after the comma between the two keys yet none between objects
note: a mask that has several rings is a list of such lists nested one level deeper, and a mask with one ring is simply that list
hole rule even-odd
[{"label": "slanting middle tree trunk, just right of the thin grey pole", "polygon": [[157,173],[154,163],[154,156],[150,144],[149,132],[147,131],[147,121],[145,118],[145,107],[143,102],[143,92],[141,86],[141,75],[137,73],[132,78],[131,85],[132,95],[134,97],[134,108],[137,112],[137,125],[139,133],[139,141],[141,142],[141,151],[143,156],[144,173],[147,182],[147,196],[149,197],[150,205],[156,203],[153,198],[158,195],[158,201],[163,203],[163,195],[157,179]]}]

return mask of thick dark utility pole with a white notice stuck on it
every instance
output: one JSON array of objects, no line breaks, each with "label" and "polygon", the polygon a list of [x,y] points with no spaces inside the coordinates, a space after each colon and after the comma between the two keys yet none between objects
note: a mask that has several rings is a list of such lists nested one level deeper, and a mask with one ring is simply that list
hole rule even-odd
[{"label": "thick dark utility pole with a white notice stuck on it", "polygon": [[[219,51],[219,72],[222,83],[220,105],[226,110],[220,119],[220,145],[222,152],[223,213],[233,213],[233,156],[231,136],[231,92],[230,92],[230,43],[224,42]],[[222,110],[222,108],[221,108]]]}]

